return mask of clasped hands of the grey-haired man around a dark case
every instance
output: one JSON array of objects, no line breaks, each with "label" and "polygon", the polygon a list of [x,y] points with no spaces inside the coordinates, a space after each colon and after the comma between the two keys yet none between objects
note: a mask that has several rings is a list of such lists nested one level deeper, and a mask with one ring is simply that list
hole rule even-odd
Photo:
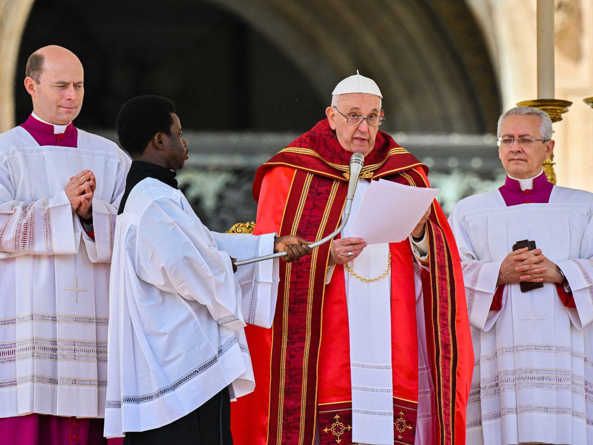
[{"label": "clasped hands of the grey-haired man around a dark case", "polygon": [[527,247],[509,253],[500,265],[496,285],[516,284],[521,281],[534,283],[562,283],[563,278],[555,263],[541,249]]}]

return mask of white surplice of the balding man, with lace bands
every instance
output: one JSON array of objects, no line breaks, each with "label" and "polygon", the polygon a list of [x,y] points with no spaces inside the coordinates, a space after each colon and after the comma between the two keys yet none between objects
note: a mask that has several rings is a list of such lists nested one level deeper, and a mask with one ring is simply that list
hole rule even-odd
[{"label": "white surplice of the balding man, with lace bands", "polygon": [[[78,148],[0,135],[0,417],[103,417],[111,247],[129,158],[78,129]],[[95,239],[64,187],[90,169]]]}]

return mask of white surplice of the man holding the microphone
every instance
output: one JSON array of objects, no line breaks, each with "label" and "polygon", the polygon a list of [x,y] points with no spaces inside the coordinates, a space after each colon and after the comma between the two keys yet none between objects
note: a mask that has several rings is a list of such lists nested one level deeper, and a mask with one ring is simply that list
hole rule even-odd
[{"label": "white surplice of the man holding the microphone", "polygon": [[136,185],[119,216],[111,269],[106,437],[170,424],[229,387],[254,389],[243,327],[269,328],[278,293],[274,234],[208,230],[179,190]]}]

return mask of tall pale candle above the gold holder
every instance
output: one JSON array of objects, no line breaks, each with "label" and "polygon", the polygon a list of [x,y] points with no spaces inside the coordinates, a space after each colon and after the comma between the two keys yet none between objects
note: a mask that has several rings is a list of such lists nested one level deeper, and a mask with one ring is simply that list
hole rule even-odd
[{"label": "tall pale candle above the gold holder", "polygon": [[554,94],[554,0],[537,0],[537,98]]}]

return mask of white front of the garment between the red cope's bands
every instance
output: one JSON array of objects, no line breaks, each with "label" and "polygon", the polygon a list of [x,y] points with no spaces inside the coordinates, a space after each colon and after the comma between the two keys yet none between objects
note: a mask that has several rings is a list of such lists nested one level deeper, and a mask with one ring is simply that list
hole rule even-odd
[{"label": "white front of the garment between the red cope's bands", "polygon": [[[357,215],[370,184],[359,180],[352,215]],[[351,236],[352,218],[342,231]],[[365,278],[387,269],[389,244],[366,246],[350,268]],[[344,271],[350,332],[352,440],[393,444],[393,374],[391,371],[391,273],[364,282]]]}]

